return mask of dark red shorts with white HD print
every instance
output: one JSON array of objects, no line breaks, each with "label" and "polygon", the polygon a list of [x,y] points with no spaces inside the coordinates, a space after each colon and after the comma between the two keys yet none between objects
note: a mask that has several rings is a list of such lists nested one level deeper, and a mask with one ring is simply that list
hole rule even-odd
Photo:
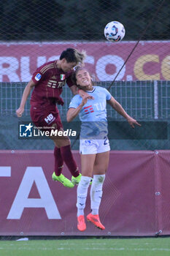
[{"label": "dark red shorts with white HD print", "polygon": [[30,115],[35,126],[39,129],[50,131],[52,129],[51,127],[53,127],[53,124],[57,125],[55,129],[59,130],[63,128],[59,110],[56,107],[38,108],[31,106]]}]

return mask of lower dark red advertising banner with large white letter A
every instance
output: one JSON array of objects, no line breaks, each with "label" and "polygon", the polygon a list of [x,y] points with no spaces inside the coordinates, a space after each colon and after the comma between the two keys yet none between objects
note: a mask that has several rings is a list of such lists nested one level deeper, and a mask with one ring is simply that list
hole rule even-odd
[{"label": "lower dark red advertising banner with large white letter A", "polygon": [[[100,217],[77,230],[76,190],[52,181],[53,151],[0,151],[0,236],[170,234],[170,151],[111,151]],[[80,154],[74,151],[80,165]],[[70,178],[64,167],[63,173]],[[90,212],[90,198],[85,216]]]}]

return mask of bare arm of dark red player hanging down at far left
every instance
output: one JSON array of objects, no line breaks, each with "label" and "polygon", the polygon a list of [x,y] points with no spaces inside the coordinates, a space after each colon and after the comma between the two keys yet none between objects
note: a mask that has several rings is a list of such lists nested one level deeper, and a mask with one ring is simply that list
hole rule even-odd
[{"label": "bare arm of dark red player hanging down at far left", "polygon": [[29,83],[26,85],[26,88],[23,91],[23,96],[20,102],[20,107],[16,110],[16,114],[18,117],[23,115],[23,111],[26,105],[26,100],[28,99],[29,94],[31,93],[31,89],[35,86],[33,80],[30,80]]}]

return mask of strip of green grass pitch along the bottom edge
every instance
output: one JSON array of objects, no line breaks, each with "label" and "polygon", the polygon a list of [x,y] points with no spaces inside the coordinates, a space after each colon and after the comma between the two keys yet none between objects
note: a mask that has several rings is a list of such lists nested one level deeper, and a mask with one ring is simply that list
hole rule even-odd
[{"label": "strip of green grass pitch along the bottom edge", "polygon": [[1,256],[168,256],[170,238],[0,241]]}]

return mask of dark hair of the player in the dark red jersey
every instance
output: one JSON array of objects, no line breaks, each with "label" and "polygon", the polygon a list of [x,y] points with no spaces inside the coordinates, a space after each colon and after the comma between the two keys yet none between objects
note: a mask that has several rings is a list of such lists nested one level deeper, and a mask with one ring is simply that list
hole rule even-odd
[{"label": "dark hair of the player in the dark red jersey", "polygon": [[66,59],[68,63],[75,62],[76,64],[82,64],[82,62],[85,59],[85,56],[86,54],[84,50],[80,52],[79,50],[76,50],[74,48],[67,48],[66,50],[63,50],[63,52],[61,53],[60,60]]}]

